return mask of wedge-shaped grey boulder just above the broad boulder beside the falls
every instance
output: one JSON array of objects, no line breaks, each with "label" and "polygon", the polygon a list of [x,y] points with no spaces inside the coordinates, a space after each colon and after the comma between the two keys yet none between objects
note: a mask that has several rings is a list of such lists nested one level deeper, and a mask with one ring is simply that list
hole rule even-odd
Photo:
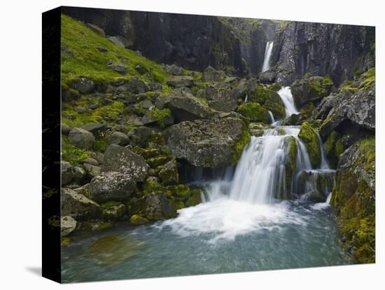
[{"label": "wedge-shaped grey boulder just above the broad boulder beside the falls", "polygon": [[165,106],[171,109],[177,122],[211,118],[211,109],[186,90],[173,90],[166,97],[162,97]]}]

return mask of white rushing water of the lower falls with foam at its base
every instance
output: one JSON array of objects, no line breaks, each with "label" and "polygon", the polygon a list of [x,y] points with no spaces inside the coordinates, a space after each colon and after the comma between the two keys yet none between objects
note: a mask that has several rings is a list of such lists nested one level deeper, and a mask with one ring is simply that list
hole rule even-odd
[{"label": "white rushing water of the lower falls with foam at its base", "polygon": [[[279,90],[286,109],[286,116],[298,113],[290,88]],[[269,112],[274,123],[274,116]],[[179,210],[176,219],[165,221],[179,235],[212,234],[209,242],[234,239],[255,230],[280,229],[283,225],[306,224],[307,219],[290,209],[288,195],[297,194],[300,201],[307,201],[314,191],[330,192],[330,182],[320,188],[324,179],[332,177],[321,144],[322,165],[313,169],[306,146],[297,137],[298,126],[276,126],[265,129],[260,137],[251,137],[237,164],[234,175],[214,180],[205,185],[203,203]],[[297,144],[297,159],[292,180],[286,180],[290,139]],[[329,175],[328,175],[329,174]],[[291,186],[291,188],[290,188]],[[290,192],[288,192],[290,191]],[[330,200],[330,196],[328,198]],[[314,205],[324,209],[328,202]]]}]

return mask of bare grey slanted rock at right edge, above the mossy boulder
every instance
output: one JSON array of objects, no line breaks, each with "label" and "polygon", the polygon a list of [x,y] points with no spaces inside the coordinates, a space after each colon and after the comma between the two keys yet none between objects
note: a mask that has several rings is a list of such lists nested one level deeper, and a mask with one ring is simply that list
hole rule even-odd
[{"label": "bare grey slanted rock at right edge, above the mossy boulder", "polygon": [[351,97],[342,98],[341,102],[338,102],[337,106],[329,111],[328,117],[320,128],[321,136],[323,138],[327,137],[332,130],[335,130],[345,120],[349,120],[364,129],[374,131],[376,127],[375,99],[375,85],[366,90],[358,90]]}]

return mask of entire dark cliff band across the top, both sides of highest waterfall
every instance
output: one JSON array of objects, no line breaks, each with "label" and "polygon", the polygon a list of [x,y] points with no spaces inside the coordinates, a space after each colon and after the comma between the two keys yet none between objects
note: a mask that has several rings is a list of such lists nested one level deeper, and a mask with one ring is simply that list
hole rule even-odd
[{"label": "entire dark cliff band across the top, both sides of highest waterfall", "polygon": [[281,85],[306,73],[330,74],[339,85],[374,67],[374,27],[97,8],[63,12],[125,37],[130,48],[155,62],[197,71],[211,66],[233,68],[239,76],[258,74],[267,41],[274,41],[271,64]]}]

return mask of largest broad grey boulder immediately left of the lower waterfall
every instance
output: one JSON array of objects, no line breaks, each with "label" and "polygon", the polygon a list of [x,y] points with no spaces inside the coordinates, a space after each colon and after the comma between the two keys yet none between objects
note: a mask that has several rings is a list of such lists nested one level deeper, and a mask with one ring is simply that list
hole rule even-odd
[{"label": "largest broad grey boulder immediately left of the lower waterfall", "polygon": [[250,135],[239,118],[223,118],[173,125],[165,132],[165,140],[176,158],[216,168],[237,163]]}]

